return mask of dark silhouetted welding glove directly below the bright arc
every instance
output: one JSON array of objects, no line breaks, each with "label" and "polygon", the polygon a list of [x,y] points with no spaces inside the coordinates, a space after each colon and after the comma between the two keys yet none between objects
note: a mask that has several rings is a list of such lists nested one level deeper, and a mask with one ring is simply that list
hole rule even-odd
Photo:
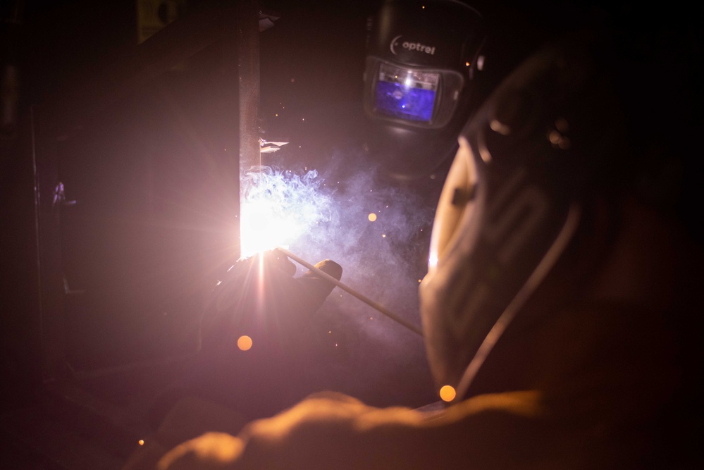
[{"label": "dark silhouetted welding glove directly below the bright arc", "polygon": [[[338,280],[342,276],[334,261],[316,267]],[[156,400],[153,426],[185,396],[257,419],[318,391],[311,377],[321,351],[311,321],[335,286],[312,271],[297,278],[295,272],[274,249],[237,261],[224,273],[202,316],[201,350]]]}]

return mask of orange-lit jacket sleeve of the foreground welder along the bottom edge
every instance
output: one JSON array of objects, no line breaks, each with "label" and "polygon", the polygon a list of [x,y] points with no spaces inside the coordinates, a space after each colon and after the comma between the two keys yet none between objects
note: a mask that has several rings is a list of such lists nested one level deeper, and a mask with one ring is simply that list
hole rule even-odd
[{"label": "orange-lit jacket sleeve of the foreground welder along the bottom edge", "polygon": [[187,441],[159,469],[511,468],[521,466],[521,454],[546,445],[533,422],[539,411],[533,392],[476,397],[433,415],[311,395],[238,437],[208,433]]}]

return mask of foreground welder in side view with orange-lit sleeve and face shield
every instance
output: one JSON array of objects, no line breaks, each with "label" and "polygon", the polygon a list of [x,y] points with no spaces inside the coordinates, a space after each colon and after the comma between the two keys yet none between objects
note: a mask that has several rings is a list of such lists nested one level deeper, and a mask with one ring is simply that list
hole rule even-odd
[{"label": "foreground welder in side view with orange-lit sleeve and face shield", "polygon": [[662,49],[612,33],[541,47],[459,133],[419,288],[446,404],[321,392],[245,424],[191,401],[155,439],[203,434],[156,468],[700,468],[703,252],[662,178],[700,116],[687,75],[641,75]]}]

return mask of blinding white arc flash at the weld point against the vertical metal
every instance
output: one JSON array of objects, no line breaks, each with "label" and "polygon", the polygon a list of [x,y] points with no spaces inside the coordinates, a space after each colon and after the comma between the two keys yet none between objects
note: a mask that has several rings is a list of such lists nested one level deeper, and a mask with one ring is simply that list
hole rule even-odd
[{"label": "blinding white arc flash at the weld point against the vertical metal", "polygon": [[315,170],[304,174],[268,166],[240,175],[240,255],[289,247],[331,218],[332,199],[319,190]]}]

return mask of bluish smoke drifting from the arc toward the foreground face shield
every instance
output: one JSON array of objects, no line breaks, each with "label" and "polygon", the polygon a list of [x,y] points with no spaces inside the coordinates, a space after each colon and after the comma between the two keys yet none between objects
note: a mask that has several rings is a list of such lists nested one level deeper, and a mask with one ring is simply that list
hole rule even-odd
[{"label": "bluish smoke drifting from the arc toward the foreground face shield", "polygon": [[[390,183],[362,152],[338,151],[327,163],[319,170],[264,166],[246,171],[242,223],[252,216],[269,219],[272,225],[264,233],[286,238],[277,245],[313,264],[333,259],[344,270],[344,283],[420,325],[418,285],[427,268],[436,192]],[[243,245],[248,236],[243,228]],[[264,238],[261,231],[256,236]],[[298,269],[297,276],[305,271]],[[432,383],[417,335],[340,289],[333,290],[317,318],[321,340],[339,359],[338,389],[380,406],[398,403],[399,390],[389,387],[416,394],[417,402],[406,403],[410,406],[433,398],[423,395],[432,393]],[[375,382],[384,384],[386,397]]]}]

